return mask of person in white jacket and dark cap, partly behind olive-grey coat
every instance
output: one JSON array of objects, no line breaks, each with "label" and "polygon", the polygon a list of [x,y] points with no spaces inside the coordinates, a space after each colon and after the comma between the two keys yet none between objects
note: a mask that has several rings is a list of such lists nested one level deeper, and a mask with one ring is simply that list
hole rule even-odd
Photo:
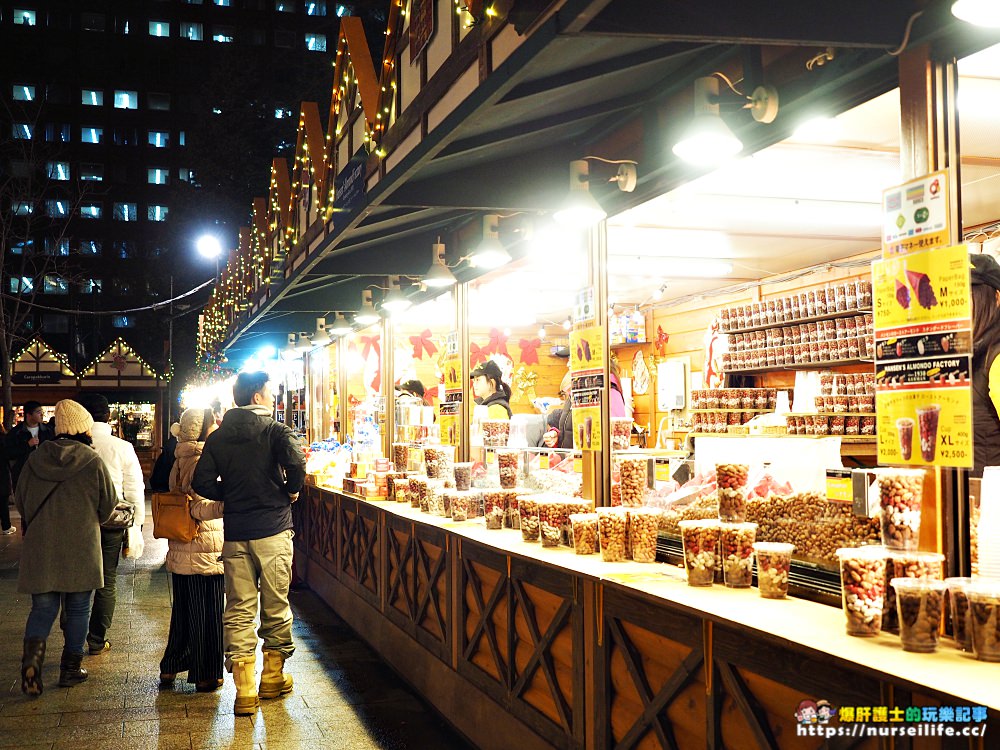
[{"label": "person in white jacket and dark cap, partly behind olive-grey coat", "polygon": [[[111,433],[111,407],[108,400],[99,393],[81,393],[78,403],[94,420],[94,450],[111,472],[115,491],[122,502],[132,506],[135,514],[132,525],[141,528],[146,515],[146,494],[142,480],[142,466],[135,448],[127,440]],[[94,593],[94,605],[90,613],[87,632],[87,651],[91,656],[111,650],[107,639],[108,629],[115,616],[117,601],[118,563],[121,560],[124,529],[101,529],[101,552],[104,560],[104,585]],[[141,553],[140,553],[141,554]]]}]

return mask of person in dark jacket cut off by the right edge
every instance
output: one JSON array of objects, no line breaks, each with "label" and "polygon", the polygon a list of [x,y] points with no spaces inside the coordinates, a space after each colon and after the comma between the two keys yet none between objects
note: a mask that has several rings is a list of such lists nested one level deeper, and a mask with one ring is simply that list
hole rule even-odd
[{"label": "person in dark jacket cut off by the right edge", "polygon": [[973,254],[972,263],[972,476],[1000,466],[1000,264]]}]

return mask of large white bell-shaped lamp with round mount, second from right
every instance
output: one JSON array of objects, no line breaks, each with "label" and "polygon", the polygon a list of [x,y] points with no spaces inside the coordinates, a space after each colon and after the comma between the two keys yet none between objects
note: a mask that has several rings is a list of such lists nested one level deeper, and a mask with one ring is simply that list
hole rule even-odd
[{"label": "large white bell-shaped lamp with round mount, second from right", "polygon": [[[716,166],[743,150],[743,141],[736,137],[719,114],[719,78],[721,73],[696,78],[694,82],[694,119],[684,131],[684,137],[674,144],[673,152],[681,159],[699,166]],[[726,83],[757,122],[770,123],[778,116],[778,92],[772,86],[758,86],[751,96],[736,91],[729,79]]]}]

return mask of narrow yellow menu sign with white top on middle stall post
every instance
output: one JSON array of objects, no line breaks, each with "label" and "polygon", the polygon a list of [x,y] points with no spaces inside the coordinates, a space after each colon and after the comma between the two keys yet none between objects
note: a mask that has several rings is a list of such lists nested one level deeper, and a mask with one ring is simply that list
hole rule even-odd
[{"label": "narrow yellow menu sign with white top on middle stall post", "polygon": [[601,391],[604,389],[604,328],[596,320],[592,287],[577,294],[569,334],[569,369],[573,380],[573,447],[601,450]]}]

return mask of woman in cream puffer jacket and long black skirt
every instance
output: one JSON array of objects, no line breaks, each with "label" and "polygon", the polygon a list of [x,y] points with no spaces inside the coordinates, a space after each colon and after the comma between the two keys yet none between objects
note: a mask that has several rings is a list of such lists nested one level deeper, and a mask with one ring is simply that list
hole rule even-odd
[{"label": "woman in cream puffer jacket and long black skirt", "polygon": [[193,682],[199,693],[222,686],[225,580],[219,554],[223,544],[223,504],[206,500],[191,489],[205,439],[215,430],[211,409],[188,409],[180,422],[170,427],[170,434],[177,439],[170,491],[186,492],[192,497],[191,516],[198,521],[198,535],[190,542],[167,542],[174,606],[167,648],[160,660],[161,688],[171,687],[177,673],[185,671],[188,682]]}]

